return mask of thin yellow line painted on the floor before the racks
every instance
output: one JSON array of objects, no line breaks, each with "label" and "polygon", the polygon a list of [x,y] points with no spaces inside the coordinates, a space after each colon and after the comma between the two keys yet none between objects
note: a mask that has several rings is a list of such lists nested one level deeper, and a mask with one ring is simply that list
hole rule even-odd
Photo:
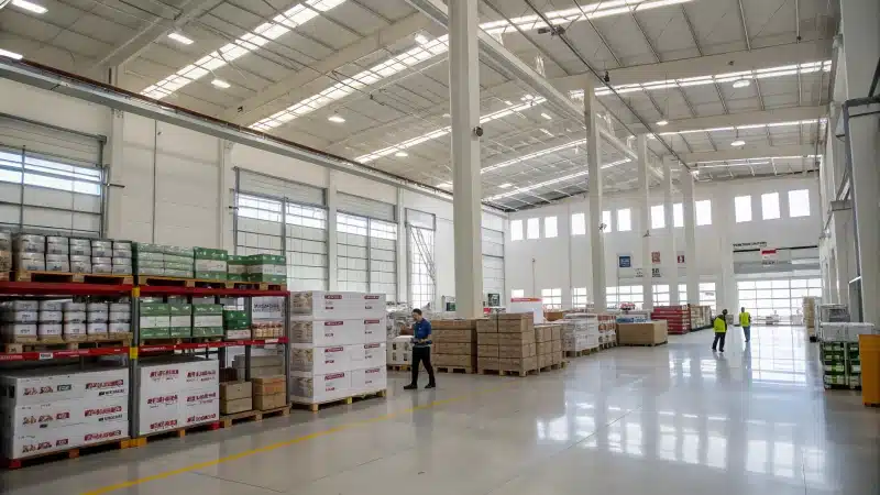
[{"label": "thin yellow line painted on the floor before the racks", "polygon": [[[518,381],[516,381],[516,382],[518,382]],[[486,388],[485,391],[480,392],[476,395],[480,396],[480,395],[485,395],[485,394],[492,394],[492,393],[498,392],[498,391],[501,391],[501,389],[503,389],[503,388],[505,388],[505,387],[507,387],[509,385],[513,385],[516,382],[512,381],[512,382],[505,383],[505,384],[499,385],[499,386]],[[371,425],[371,424],[380,422],[380,421],[386,421],[386,420],[392,419],[392,418],[394,418],[396,416],[405,415],[405,414],[408,414],[408,413],[414,413],[414,411],[421,410],[421,409],[430,409],[430,408],[438,407],[438,406],[444,406],[447,404],[458,403],[458,402],[461,402],[461,400],[464,400],[464,399],[468,399],[468,398],[472,398],[472,397],[474,397],[474,395],[460,395],[460,396],[451,397],[451,398],[448,398],[448,399],[435,400],[435,402],[431,402],[431,403],[428,403],[428,404],[422,404],[420,406],[409,407],[407,409],[402,409],[402,410],[398,410],[398,411],[388,413],[386,415],[376,416],[375,418],[369,418],[369,419],[363,419],[363,420],[360,420],[360,421],[348,422],[348,424],[344,424],[344,425],[340,425],[338,427],[329,428],[327,430],[316,431],[314,433],[304,435],[302,437],[297,437],[297,438],[293,438],[290,440],[285,440],[285,441],[282,441],[282,442],[272,443],[272,444],[268,444],[268,446],[265,446],[265,447],[261,447],[261,448],[257,448],[257,449],[245,450],[245,451],[239,452],[237,454],[227,455],[226,458],[215,459],[212,461],[199,462],[198,464],[188,465],[186,468],[180,468],[180,469],[176,469],[176,470],[172,470],[172,471],[165,471],[165,472],[153,474],[153,475],[150,475],[150,476],[139,477],[138,480],[131,480],[131,481],[127,481],[127,482],[122,482],[122,483],[117,483],[114,485],[108,485],[108,486],[105,486],[105,487],[101,487],[101,488],[92,490],[90,492],[84,492],[81,495],[103,495],[103,494],[107,494],[107,493],[110,493],[110,492],[117,492],[119,490],[124,490],[124,488],[129,488],[129,487],[132,487],[132,486],[142,485],[144,483],[148,483],[148,482],[153,482],[153,481],[157,481],[157,480],[165,480],[167,477],[172,477],[172,476],[175,476],[175,475],[178,475],[178,474],[188,473],[190,471],[201,470],[201,469],[205,469],[205,468],[210,468],[212,465],[218,465],[218,464],[223,464],[226,462],[237,461],[239,459],[243,459],[243,458],[246,458],[246,457],[250,457],[250,455],[255,455],[255,454],[258,454],[258,453],[271,452],[273,450],[277,450],[277,449],[280,449],[280,448],[284,448],[284,447],[289,447],[289,446],[293,446],[293,444],[296,444],[296,443],[301,443],[301,442],[305,442],[305,441],[308,441],[308,440],[314,440],[316,438],[326,437],[326,436],[332,435],[332,433],[338,433],[340,431],[349,430],[349,429],[352,429],[352,428],[356,428],[356,427],[361,427],[361,426],[365,426],[365,425]]]}]

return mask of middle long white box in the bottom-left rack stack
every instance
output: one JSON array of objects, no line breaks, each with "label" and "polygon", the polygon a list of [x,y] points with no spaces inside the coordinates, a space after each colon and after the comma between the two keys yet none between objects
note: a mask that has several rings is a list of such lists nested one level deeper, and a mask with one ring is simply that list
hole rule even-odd
[{"label": "middle long white box in the bottom-left rack stack", "polygon": [[128,396],[101,400],[57,400],[0,409],[0,428],[18,435],[45,428],[66,428],[84,422],[120,421],[125,420],[128,415]]}]

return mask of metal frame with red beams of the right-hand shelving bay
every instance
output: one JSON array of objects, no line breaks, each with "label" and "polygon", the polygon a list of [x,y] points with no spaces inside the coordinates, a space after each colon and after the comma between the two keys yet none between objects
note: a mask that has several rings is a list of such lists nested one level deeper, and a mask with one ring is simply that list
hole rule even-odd
[{"label": "metal frame with red beams of the right-hand shelving bay", "polygon": [[[248,298],[245,304],[246,310],[251,312],[252,305],[250,304],[253,297],[282,297],[284,298],[284,311],[282,318],[284,319],[284,337],[278,339],[261,339],[261,340],[232,340],[219,342],[183,342],[177,344],[142,344],[140,331],[140,314],[141,314],[141,298],[143,297],[167,297],[167,296],[188,296],[188,297],[241,297]],[[138,286],[132,289],[132,346],[129,352],[129,378],[130,378],[130,395],[129,395],[129,428],[131,438],[139,438],[138,426],[140,424],[140,366],[142,354],[153,354],[162,352],[176,352],[176,351],[205,351],[207,355],[211,351],[217,351],[218,360],[226,363],[226,349],[232,346],[244,346],[244,380],[251,380],[251,351],[254,345],[284,345],[284,375],[287,382],[289,406],[289,389],[290,389],[290,322],[287,311],[289,310],[290,293],[287,290],[257,290],[257,289],[240,289],[240,288],[201,288],[201,287],[173,287],[173,286]],[[223,367],[223,366],[220,366]]]}]

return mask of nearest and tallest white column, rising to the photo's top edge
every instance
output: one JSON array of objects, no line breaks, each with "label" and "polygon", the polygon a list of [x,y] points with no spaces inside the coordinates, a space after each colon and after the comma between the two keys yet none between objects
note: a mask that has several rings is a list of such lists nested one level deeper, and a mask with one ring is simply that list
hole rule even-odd
[{"label": "nearest and tallest white column, rising to the photo's top edge", "polygon": [[455,314],[461,318],[483,316],[480,138],[474,133],[480,125],[477,30],[475,0],[449,2]]}]

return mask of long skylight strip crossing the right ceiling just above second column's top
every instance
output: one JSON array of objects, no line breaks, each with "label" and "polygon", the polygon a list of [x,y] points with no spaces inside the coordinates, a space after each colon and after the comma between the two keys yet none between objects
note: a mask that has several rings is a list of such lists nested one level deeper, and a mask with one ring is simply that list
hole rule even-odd
[{"label": "long skylight strip crossing the right ceiling just above second column's top", "polygon": [[[832,69],[832,61],[809,62],[801,65],[787,65],[782,67],[771,67],[757,70],[718,74],[714,76],[686,77],[682,79],[654,80],[650,82],[635,82],[630,85],[615,86],[614,89],[618,94],[624,95],[627,92],[635,92],[635,91],[654,91],[667,88],[676,88],[676,87],[686,88],[689,86],[705,86],[714,84],[734,82],[743,79],[767,79],[772,77],[794,76],[798,74],[817,73],[820,70],[827,73],[831,72],[831,69]],[[596,89],[596,96],[606,96],[606,95],[612,95],[612,90],[608,88]],[[584,98],[584,91],[582,89],[576,89],[570,91],[569,96],[573,99],[582,100]]]}]

